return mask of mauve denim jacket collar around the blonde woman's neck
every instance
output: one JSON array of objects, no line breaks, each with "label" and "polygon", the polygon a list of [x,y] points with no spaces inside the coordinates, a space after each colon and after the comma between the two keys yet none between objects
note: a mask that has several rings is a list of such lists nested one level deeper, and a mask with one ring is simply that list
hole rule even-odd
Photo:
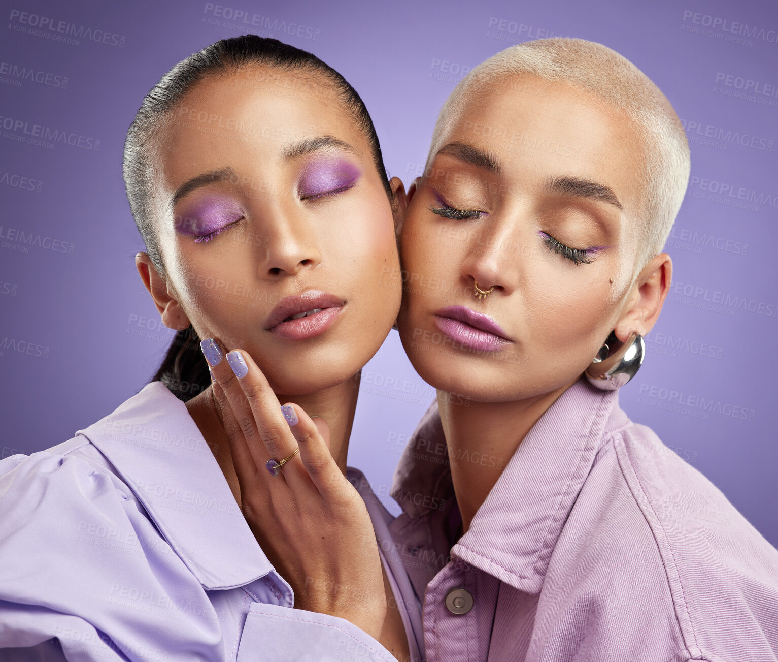
[{"label": "mauve denim jacket collar around the blonde woman's neck", "polygon": [[[629,422],[619,407],[618,389],[602,391],[584,378],[573,383],[524,436],[468,532],[451,548],[452,558],[514,588],[539,593],[562,526],[606,433]],[[411,519],[434,517],[431,504],[454,498],[437,403],[410,438],[391,495]]]}]

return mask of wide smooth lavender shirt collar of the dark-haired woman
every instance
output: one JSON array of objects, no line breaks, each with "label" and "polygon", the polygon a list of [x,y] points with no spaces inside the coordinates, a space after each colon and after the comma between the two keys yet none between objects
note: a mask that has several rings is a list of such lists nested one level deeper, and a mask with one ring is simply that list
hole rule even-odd
[{"label": "wide smooth lavender shirt collar of the dark-haired woman", "polygon": [[110,460],[205,589],[244,586],[274,570],[186,404],[162,382],[75,435]]}]

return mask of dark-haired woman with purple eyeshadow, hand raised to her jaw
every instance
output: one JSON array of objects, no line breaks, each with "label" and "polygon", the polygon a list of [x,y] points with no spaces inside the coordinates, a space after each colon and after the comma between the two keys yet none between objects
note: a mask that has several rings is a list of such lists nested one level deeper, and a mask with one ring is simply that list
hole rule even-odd
[{"label": "dark-haired woman with purple eyeshadow, hand raised to her jaw", "polygon": [[124,181],[178,333],[113,413],[0,462],[0,658],[419,660],[391,516],[345,464],[401,296],[405,193],[363,101],[306,51],[220,40],[146,95]]}]

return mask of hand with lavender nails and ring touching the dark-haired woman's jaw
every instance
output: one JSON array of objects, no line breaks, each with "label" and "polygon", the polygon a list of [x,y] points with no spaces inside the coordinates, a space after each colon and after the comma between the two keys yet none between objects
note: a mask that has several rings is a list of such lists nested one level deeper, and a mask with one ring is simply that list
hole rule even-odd
[{"label": "hand with lavender nails and ring touching the dark-haired woman's jaw", "polygon": [[[292,586],[295,607],[346,618],[379,639],[387,602],[373,524],[330,454],[327,423],[293,403],[279,407],[251,356],[233,350],[224,360],[217,343],[204,340],[203,353],[251,531]],[[273,476],[268,460],[298,447]]]}]

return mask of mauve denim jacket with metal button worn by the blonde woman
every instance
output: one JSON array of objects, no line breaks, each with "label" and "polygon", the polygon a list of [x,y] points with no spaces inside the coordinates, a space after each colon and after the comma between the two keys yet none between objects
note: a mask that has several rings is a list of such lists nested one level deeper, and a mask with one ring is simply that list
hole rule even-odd
[{"label": "mauve denim jacket with metal button worn by the blonde woman", "polygon": [[448,460],[433,403],[390,527],[429,662],[778,660],[778,551],[618,391],[562,393],[455,542]]}]

